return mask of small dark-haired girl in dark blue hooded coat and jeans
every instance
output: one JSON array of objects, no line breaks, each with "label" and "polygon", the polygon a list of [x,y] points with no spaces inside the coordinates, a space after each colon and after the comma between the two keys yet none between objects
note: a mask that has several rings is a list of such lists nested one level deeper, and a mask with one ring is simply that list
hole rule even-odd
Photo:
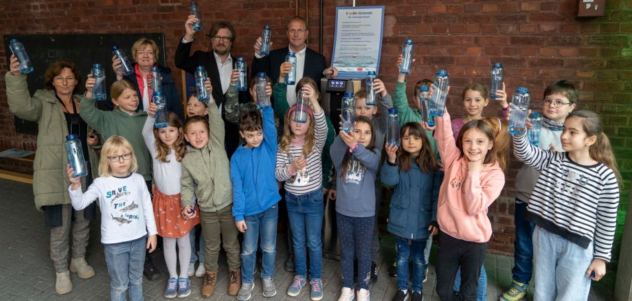
[{"label": "small dark-haired girl in dark blue hooded coat and jeans", "polygon": [[387,230],[396,236],[397,286],[393,301],[407,300],[409,256],[412,256],[412,301],[423,300],[426,240],[437,234],[437,199],[443,173],[430,146],[426,131],[416,122],[401,129],[401,150],[385,146],[387,160],[382,166],[382,182],[394,186]]}]

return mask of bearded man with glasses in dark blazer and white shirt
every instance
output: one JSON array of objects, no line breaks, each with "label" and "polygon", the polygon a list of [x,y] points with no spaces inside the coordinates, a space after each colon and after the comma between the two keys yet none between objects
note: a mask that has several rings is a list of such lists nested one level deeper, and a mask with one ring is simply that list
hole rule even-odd
[{"label": "bearded man with glasses in dark blazer and white shirt", "polygon": [[[235,30],[228,22],[220,21],[211,26],[208,37],[211,38],[210,52],[196,51],[191,53],[195,32],[192,24],[197,21],[194,15],[190,15],[184,23],[185,34],[178,43],[176,49],[176,67],[195,73],[198,66],[204,67],[211,78],[211,85],[214,87],[212,94],[218,109],[224,120],[226,135],[224,138],[226,153],[230,158],[239,145],[238,127],[231,122],[226,122],[226,112],[224,109],[226,102],[226,91],[230,85],[230,78],[235,69],[236,58],[230,54],[230,47],[235,41]],[[239,102],[249,102],[249,96],[245,92],[239,93]]]}]

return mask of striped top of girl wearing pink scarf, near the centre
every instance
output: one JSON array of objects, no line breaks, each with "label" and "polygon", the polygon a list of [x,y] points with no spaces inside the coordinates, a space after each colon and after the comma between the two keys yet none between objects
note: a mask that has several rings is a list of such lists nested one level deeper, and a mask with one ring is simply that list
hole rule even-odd
[{"label": "striped top of girl wearing pink scarf, near the centre", "polygon": [[[290,175],[289,166],[293,158],[302,156],[303,146],[290,145],[289,150],[281,148],[277,151],[275,177],[278,181],[285,182],[285,190],[292,194],[304,194],[321,189],[323,184],[323,162],[321,155],[327,140],[327,122],[324,111],[314,114],[315,120],[315,146],[307,156],[307,166]],[[292,161],[291,161],[292,160]]]}]

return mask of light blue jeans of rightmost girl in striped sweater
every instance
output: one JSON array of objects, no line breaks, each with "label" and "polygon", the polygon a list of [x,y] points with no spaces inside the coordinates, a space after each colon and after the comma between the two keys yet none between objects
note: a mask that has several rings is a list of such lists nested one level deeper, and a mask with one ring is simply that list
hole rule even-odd
[{"label": "light blue jeans of rightmost girl in striped sweater", "polygon": [[590,278],[586,277],[594,248],[587,249],[541,227],[533,232],[534,301],[588,300]]}]

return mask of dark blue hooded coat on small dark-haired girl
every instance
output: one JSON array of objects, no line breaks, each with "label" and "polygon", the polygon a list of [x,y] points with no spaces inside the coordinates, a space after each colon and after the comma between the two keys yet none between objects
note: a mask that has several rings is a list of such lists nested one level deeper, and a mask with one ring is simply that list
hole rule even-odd
[{"label": "dark blue hooded coat on small dark-haired girl", "polygon": [[408,172],[399,170],[399,160],[392,166],[384,161],[382,182],[394,186],[386,229],[393,235],[412,240],[426,239],[431,222],[437,221],[437,200],[443,172],[422,172],[415,162]]}]

